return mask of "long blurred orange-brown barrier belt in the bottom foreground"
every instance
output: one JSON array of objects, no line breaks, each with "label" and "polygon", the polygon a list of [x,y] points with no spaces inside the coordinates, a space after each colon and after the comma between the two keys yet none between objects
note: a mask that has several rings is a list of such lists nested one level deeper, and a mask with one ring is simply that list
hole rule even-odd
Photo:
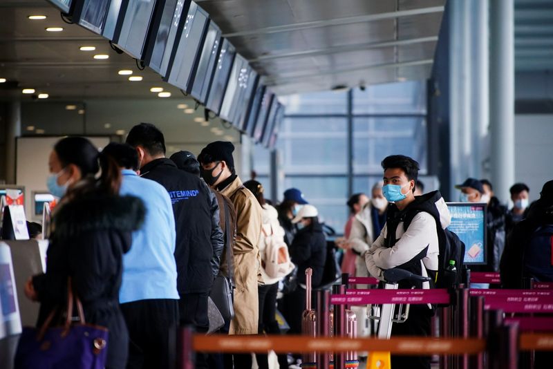
[{"label": "long blurred orange-brown barrier belt in the bottom foreground", "polygon": [[484,339],[434,339],[393,337],[391,339],[305,336],[205,336],[194,335],[192,348],[200,352],[335,352],[336,350],[388,351],[393,354],[478,354],[486,349]]}]

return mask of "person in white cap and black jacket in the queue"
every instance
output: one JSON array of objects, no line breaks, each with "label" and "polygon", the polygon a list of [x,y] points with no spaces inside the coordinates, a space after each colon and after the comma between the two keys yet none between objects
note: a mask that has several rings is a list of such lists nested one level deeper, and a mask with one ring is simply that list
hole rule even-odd
[{"label": "person in white cap and black jacket in the queue", "polygon": [[319,211],[313,205],[303,205],[292,223],[298,227],[290,245],[290,258],[298,267],[298,287],[285,295],[284,303],[289,313],[289,333],[301,334],[301,312],[306,308],[306,269],[313,269],[311,285],[313,288],[319,287],[326,263],[326,237],[319,223]]}]

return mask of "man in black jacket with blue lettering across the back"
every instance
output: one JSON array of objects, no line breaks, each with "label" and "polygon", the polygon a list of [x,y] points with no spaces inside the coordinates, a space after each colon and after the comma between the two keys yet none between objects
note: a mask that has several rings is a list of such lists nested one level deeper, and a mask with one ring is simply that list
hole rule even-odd
[{"label": "man in black jacket with blue lettering across the back", "polygon": [[[207,332],[207,297],[214,279],[212,259],[218,261],[223,251],[218,205],[211,202],[209,189],[200,178],[181,171],[165,158],[165,138],[156,126],[134,126],[126,143],[138,151],[140,176],[165,187],[173,203],[180,324]],[[207,368],[203,355],[196,357],[196,368]]]}]

